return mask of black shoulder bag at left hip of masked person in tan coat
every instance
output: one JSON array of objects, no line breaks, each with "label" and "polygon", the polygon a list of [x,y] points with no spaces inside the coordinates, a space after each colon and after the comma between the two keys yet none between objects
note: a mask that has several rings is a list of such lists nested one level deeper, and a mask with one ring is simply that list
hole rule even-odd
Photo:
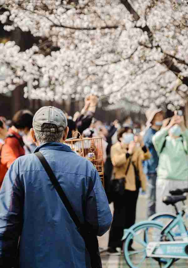
[{"label": "black shoulder bag at left hip of masked person in tan coat", "polygon": [[[127,170],[125,172],[125,178],[128,174],[128,170],[131,164],[131,158],[129,160]],[[125,190],[125,178],[121,179],[112,179],[111,181],[111,193],[112,193],[112,201],[115,199],[117,195],[122,196]]]}]

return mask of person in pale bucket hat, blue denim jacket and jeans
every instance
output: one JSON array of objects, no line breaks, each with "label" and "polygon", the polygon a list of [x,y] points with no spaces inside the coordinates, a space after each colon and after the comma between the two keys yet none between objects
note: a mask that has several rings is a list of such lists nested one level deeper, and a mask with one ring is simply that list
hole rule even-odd
[{"label": "person in pale bucket hat, blue denim jacket and jeans", "polygon": [[146,111],[147,131],[144,135],[144,144],[149,148],[151,158],[147,161],[144,161],[144,173],[147,176],[147,195],[148,195],[148,207],[147,207],[147,216],[155,214],[155,204],[156,204],[156,180],[157,180],[157,167],[159,163],[159,157],[154,148],[152,138],[155,133],[163,125],[164,114],[162,109],[152,107]]}]

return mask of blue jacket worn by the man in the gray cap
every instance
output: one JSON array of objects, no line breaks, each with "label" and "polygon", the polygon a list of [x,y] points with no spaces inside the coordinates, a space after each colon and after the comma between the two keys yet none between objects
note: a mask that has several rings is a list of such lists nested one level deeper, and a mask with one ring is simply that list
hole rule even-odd
[{"label": "blue jacket worn by the man in the gray cap", "polygon": [[[102,236],[112,215],[95,167],[61,143],[39,150],[80,221]],[[84,240],[34,154],[11,165],[0,191],[1,268],[14,267],[19,236],[20,268],[90,268]]]}]

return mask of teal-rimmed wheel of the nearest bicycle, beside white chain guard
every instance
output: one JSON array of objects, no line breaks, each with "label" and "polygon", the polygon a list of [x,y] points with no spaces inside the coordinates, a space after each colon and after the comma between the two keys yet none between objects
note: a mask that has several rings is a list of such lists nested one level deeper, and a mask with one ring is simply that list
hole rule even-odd
[{"label": "teal-rimmed wheel of the nearest bicycle, beside white chain guard", "polygon": [[[174,259],[151,258],[146,256],[146,247],[149,242],[159,242],[162,225],[157,223],[141,223],[135,226],[133,232],[129,233],[123,244],[124,257],[131,268],[156,267],[159,264],[161,268],[168,268]],[[166,235],[169,241],[174,241],[171,233]],[[132,244],[134,251],[128,251],[129,245]]]}]

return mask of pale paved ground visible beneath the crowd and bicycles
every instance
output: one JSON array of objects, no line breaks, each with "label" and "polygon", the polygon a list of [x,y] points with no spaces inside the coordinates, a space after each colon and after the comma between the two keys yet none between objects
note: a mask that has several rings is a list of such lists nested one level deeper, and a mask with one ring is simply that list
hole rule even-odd
[{"label": "pale paved ground visible beneath the crowd and bicycles", "polygon": [[[110,205],[111,210],[113,211],[113,205]],[[139,196],[138,205],[137,205],[137,221],[142,221],[146,219],[146,197]],[[107,232],[104,236],[99,237],[99,246],[103,248],[107,248],[109,232]],[[112,256],[107,253],[102,253],[102,265],[103,268],[128,268],[129,266],[126,264],[123,254],[121,256]],[[135,266],[138,268],[160,268],[159,264],[153,260],[147,260],[147,264],[145,266]],[[162,265],[164,267],[164,265]],[[161,268],[162,268],[161,267]],[[175,264],[171,266],[171,268],[186,268],[188,267],[188,261],[179,260]]]}]

